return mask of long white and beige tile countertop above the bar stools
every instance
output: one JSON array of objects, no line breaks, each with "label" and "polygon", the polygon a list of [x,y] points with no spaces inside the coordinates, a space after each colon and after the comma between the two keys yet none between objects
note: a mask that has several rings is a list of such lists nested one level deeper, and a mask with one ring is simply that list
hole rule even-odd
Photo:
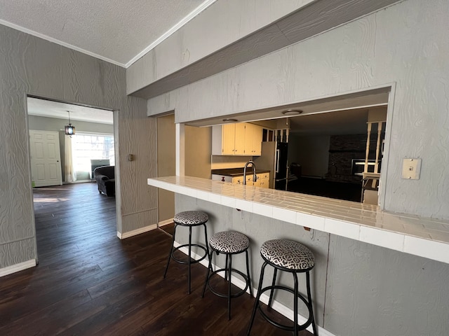
[{"label": "long white and beige tile countertop above the bar stools", "polygon": [[148,179],[148,185],[449,264],[449,221],[388,213],[375,205],[190,176]]}]

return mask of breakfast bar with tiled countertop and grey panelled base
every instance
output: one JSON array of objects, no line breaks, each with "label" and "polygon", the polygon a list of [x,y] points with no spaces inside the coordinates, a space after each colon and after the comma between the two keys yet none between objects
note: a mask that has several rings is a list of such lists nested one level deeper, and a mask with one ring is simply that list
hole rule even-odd
[{"label": "breakfast bar with tiled countertop and grey panelled base", "polygon": [[[445,315],[443,307],[449,295],[444,285],[449,274],[448,222],[389,214],[358,202],[190,176],[160,177],[147,183],[175,193],[176,211],[207,211],[209,235],[224,230],[247,235],[254,288],[264,241],[294,239],[311,248],[316,258],[311,286],[319,335],[344,335],[345,327],[339,321],[347,314],[374,328],[378,319],[370,318],[373,309],[394,310],[413,321],[410,314],[427,311],[429,304],[441,302],[438,311]],[[195,239],[201,241],[201,233]],[[220,266],[220,259],[214,258],[214,262]],[[236,267],[244,265],[237,260]],[[288,284],[291,279],[286,278],[281,282]],[[239,279],[233,279],[233,283],[242,285]],[[262,295],[263,300],[267,303],[268,297]],[[291,319],[290,301],[276,296],[273,308]],[[307,313],[300,309],[300,323],[305,321],[304,316]],[[388,321],[396,323],[394,318]],[[336,326],[330,332],[331,324]],[[404,330],[410,324],[404,325]],[[382,328],[396,327],[387,323]]]}]

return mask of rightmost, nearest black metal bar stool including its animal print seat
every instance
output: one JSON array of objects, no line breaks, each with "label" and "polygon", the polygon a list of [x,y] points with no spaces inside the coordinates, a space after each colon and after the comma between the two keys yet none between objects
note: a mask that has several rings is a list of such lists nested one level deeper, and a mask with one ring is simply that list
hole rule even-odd
[{"label": "rightmost, nearest black metal bar stool including its animal print seat", "polygon": [[[257,308],[259,308],[262,317],[265,318],[265,320],[267,320],[269,323],[272,323],[272,325],[275,325],[277,328],[293,331],[294,335],[297,335],[297,332],[299,330],[304,330],[311,324],[314,330],[314,335],[318,335],[316,333],[314,311],[312,309],[311,294],[310,294],[309,271],[312,268],[314,268],[315,265],[315,257],[313,253],[311,253],[309,248],[298,243],[297,241],[287,239],[274,239],[265,241],[264,244],[262,244],[262,246],[260,247],[260,255],[262,255],[264,263],[262,265],[262,269],[260,270],[259,288],[257,290],[257,297],[255,300],[253,314],[251,316],[247,335],[250,335],[251,328],[253,327]],[[267,265],[274,267],[272,286],[262,288],[264,271]],[[276,276],[278,270],[293,274],[293,280],[295,283],[293,288],[286,286],[276,286]],[[304,273],[304,272],[306,274],[306,281],[307,281],[307,299],[300,293],[298,293],[297,290],[297,273]],[[271,293],[269,295],[268,307],[272,307],[273,293],[275,289],[286,290],[293,294],[293,323],[294,323],[293,325],[283,325],[272,320],[272,318],[269,318],[269,316],[267,316],[267,314],[265,314],[262,308],[260,307],[259,304],[260,295],[262,295],[262,293],[264,293],[267,290],[271,290]],[[304,302],[304,304],[306,304],[307,309],[309,309],[309,318],[302,325],[297,324],[298,297],[302,300],[302,302]]]}]

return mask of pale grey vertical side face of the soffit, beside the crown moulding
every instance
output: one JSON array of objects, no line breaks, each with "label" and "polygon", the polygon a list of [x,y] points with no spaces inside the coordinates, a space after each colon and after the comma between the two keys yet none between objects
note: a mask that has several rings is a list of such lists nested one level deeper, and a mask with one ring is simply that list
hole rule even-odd
[{"label": "pale grey vertical side face of the soffit, beside the crown moulding", "polygon": [[175,73],[311,2],[275,0],[256,6],[256,0],[217,1],[129,66],[126,90],[135,92]]}]

